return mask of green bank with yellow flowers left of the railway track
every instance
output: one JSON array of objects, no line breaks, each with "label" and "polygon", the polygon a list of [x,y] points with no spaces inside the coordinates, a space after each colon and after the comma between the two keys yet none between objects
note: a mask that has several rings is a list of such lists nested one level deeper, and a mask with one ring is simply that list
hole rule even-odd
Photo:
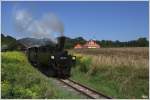
[{"label": "green bank with yellow flowers left of the railway track", "polygon": [[28,63],[23,53],[1,54],[1,98],[80,98],[56,87]]}]

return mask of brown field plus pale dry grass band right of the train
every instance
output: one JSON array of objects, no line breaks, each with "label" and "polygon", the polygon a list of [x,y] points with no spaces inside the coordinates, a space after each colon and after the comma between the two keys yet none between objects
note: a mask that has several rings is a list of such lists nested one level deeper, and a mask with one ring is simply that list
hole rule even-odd
[{"label": "brown field plus pale dry grass band right of the train", "polygon": [[90,56],[95,65],[148,67],[148,48],[78,49],[75,53]]}]

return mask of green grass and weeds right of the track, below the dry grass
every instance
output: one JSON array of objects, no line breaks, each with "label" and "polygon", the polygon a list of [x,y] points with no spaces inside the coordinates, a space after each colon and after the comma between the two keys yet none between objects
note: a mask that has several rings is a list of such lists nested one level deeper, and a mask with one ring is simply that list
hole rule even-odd
[{"label": "green grass and weeds right of the track, below the dry grass", "polygon": [[[96,60],[93,56],[76,56],[77,66],[72,69],[72,79],[114,98],[149,96],[149,71],[145,65],[101,64],[100,60],[93,61]],[[88,70],[82,71],[82,67]]]}]

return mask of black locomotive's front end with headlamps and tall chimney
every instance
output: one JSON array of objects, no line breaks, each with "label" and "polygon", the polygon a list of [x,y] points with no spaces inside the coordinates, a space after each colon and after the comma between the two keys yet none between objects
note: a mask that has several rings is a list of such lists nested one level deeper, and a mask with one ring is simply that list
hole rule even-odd
[{"label": "black locomotive's front end with headlamps and tall chimney", "polygon": [[50,64],[52,69],[55,70],[58,77],[69,77],[71,67],[75,64],[76,57],[69,55],[68,51],[64,50],[65,37],[58,38],[56,51],[50,56]]}]

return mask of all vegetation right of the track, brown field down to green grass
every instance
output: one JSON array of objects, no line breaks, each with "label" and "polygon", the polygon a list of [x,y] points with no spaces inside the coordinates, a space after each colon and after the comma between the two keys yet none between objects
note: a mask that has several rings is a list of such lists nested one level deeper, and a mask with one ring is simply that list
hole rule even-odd
[{"label": "all vegetation right of the track, brown field down to green grass", "polygon": [[115,98],[147,98],[148,48],[71,51],[77,56],[72,79]]}]

